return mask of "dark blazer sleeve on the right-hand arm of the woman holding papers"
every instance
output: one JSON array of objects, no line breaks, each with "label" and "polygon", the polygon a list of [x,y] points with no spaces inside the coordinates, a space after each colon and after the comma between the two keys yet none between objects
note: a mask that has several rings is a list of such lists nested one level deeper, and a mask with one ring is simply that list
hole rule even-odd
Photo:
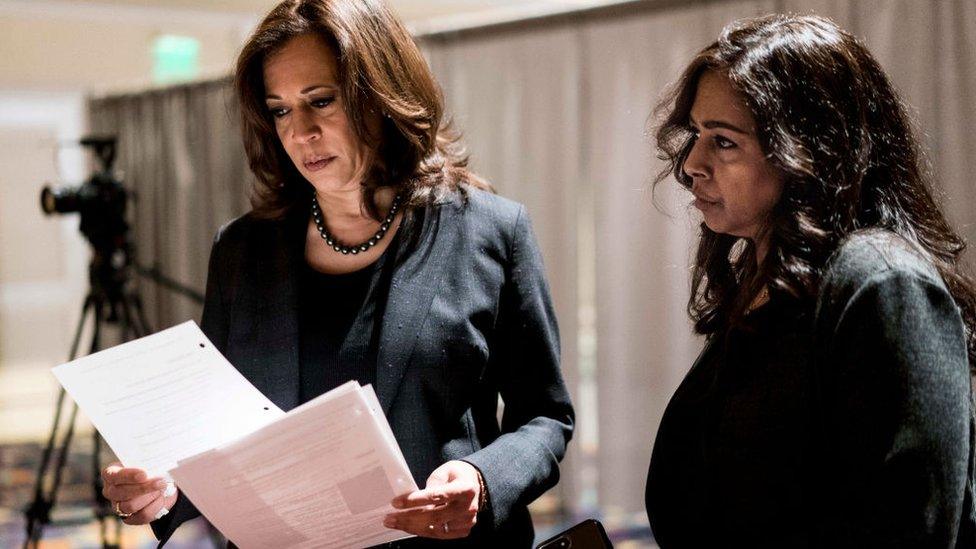
[{"label": "dark blazer sleeve on the right-hand arm of the woman holding papers", "polygon": [[504,402],[501,436],[464,458],[481,471],[497,528],[559,480],[574,413],[559,369],[559,332],[531,224],[520,207],[510,237],[489,368]]}]

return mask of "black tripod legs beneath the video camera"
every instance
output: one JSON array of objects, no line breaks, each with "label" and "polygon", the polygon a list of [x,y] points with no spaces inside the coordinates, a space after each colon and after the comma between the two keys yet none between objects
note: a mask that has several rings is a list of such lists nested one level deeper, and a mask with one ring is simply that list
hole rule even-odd
[{"label": "black tripod legs beneath the video camera", "polygon": [[[69,361],[78,358],[82,334],[88,317],[93,319],[89,352],[101,349],[102,330],[106,324],[118,324],[122,341],[129,341],[149,334],[149,323],[146,321],[142,308],[142,300],[134,291],[126,288],[125,271],[112,269],[107,262],[99,261],[99,254],[89,267],[90,288],[81,309],[81,318],[75,330],[71,343]],[[106,268],[107,267],[107,268]],[[51,510],[57,503],[58,490],[64,475],[68,459],[68,451],[74,436],[75,419],[78,415],[78,405],[70,404],[67,422],[62,425],[64,412],[65,390],[62,387],[58,393],[58,402],[54,414],[54,424],[48,437],[47,445],[41,456],[37,478],[34,484],[34,499],[25,510],[27,519],[24,549],[39,546],[45,526],[51,524]],[[59,432],[64,434],[59,437]],[[118,549],[121,534],[121,523],[111,509],[110,503],[102,495],[102,479],[100,454],[102,449],[101,435],[93,432],[92,445],[92,482],[91,487],[95,501],[95,517],[99,522],[99,535],[103,549]],[[60,440],[59,440],[60,438]],[[53,469],[52,469],[53,465]],[[109,526],[114,530],[114,542],[109,541]]]}]

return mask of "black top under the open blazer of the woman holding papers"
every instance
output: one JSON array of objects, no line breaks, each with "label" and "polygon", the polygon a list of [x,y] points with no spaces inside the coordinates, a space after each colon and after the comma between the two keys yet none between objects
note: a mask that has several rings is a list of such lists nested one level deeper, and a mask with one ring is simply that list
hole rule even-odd
[{"label": "black top under the open blazer of the woman holding papers", "polygon": [[362,311],[357,329],[350,331],[361,316],[376,266],[374,262],[359,271],[339,275],[305,267],[298,313],[301,402],[349,380],[362,385],[376,382],[376,358],[369,347],[374,324],[372,310]]}]

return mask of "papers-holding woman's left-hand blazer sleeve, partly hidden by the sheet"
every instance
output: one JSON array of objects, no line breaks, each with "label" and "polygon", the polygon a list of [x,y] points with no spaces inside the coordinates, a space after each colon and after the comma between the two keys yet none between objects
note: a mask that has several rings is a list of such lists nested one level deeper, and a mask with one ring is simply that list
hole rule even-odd
[{"label": "papers-holding woman's left-hand blazer sleeve, partly hidden by the sheet", "polygon": [[[203,303],[203,317],[200,329],[207,335],[220,352],[224,352],[227,343],[227,311],[221,293],[221,283],[224,277],[226,262],[223,259],[221,235],[218,231],[210,249],[210,262],[207,268],[207,290]],[[180,491],[173,504],[173,508],[164,517],[150,523],[153,534],[162,547],[169,540],[176,528],[184,522],[200,516],[200,511]]]}]

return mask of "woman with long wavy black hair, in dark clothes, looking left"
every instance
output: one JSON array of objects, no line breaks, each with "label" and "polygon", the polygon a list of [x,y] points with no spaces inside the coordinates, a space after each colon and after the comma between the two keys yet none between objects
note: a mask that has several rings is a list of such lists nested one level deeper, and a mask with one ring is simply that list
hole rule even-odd
[{"label": "woman with long wavy black hair, in dark clothes, looking left", "polygon": [[659,109],[707,342],[655,441],[657,541],[976,546],[976,291],[877,61],[826,19],[748,20]]}]

